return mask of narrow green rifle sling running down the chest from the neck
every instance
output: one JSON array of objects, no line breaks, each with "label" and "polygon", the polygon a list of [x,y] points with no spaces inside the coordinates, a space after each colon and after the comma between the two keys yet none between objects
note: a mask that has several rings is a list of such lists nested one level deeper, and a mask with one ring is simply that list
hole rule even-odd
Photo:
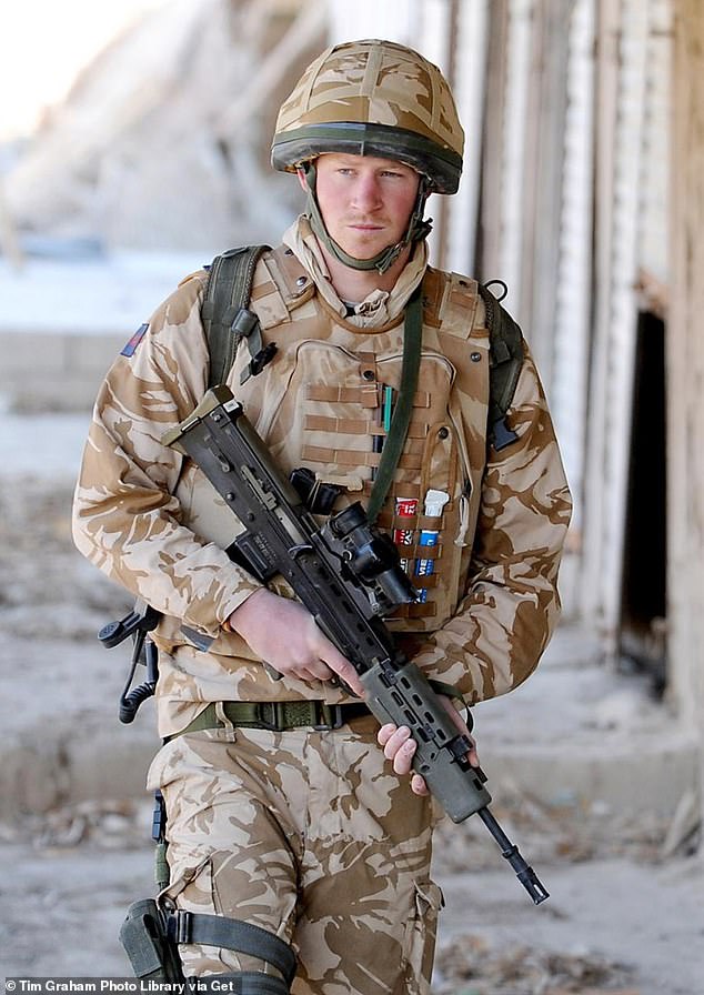
[{"label": "narrow green rifle sling running down the chest from the neck", "polygon": [[421,365],[421,341],[423,338],[423,295],[421,283],[413,291],[405,309],[405,322],[403,325],[403,362],[401,365],[401,389],[399,400],[393,411],[389,434],[381,452],[381,460],[374,479],[374,486],[369,499],[366,515],[370,523],[376,521],[376,515],[386,499],[389,488],[396,472],[399,460],[403,451],[403,444],[409,431],[413,398],[418,386],[418,371]]}]

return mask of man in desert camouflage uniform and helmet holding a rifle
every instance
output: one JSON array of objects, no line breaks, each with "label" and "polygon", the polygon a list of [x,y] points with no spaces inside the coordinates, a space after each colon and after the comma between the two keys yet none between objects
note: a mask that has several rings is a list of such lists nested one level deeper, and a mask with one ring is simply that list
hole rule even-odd
[{"label": "man in desert camouflage uniform and helmet holding a rifle", "polygon": [[[241,345],[228,383],[286,473],[341,488],[336,510],[369,501],[422,287],[419,384],[378,519],[419,601],[389,624],[447,703],[474,704],[545,649],[570,495],[527,348],[507,444],[487,444],[484,303],[475,281],[428,264],[425,202],[456,191],[463,140],[441,72],[403,46],[341,44],[309,67],[272,150],[306,208],[261,257],[250,304],[270,361],[248,375]],[[109,371],[74,505],[79,549],[162,613],[161,901],[217,916],[181,935],[187,975],[274,995],[428,992],[442,896],[431,800],[409,783],[415,744],[341,685],[362,694],[283,581],[230,561],[231,513],[160,442],[207,389],[207,280],[187,278]]]}]

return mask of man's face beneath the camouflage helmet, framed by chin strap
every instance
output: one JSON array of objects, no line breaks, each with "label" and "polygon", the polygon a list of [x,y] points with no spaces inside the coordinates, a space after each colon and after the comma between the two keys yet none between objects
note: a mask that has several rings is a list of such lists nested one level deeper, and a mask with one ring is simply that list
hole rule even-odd
[{"label": "man's face beneath the camouflage helmet, framed by chin strap", "polygon": [[331,238],[355,259],[372,259],[405,234],[420,177],[393,159],[328,152],[316,160],[316,193]]}]

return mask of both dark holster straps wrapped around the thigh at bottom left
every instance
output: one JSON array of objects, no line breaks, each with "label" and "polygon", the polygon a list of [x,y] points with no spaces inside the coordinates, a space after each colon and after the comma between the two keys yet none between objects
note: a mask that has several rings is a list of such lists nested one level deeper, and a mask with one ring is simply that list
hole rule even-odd
[{"label": "both dark holster straps wrapped around the thigh at bottom left", "polygon": [[[168,931],[173,943],[204,943],[225,947],[238,954],[249,954],[271,964],[283,975],[276,977],[257,971],[235,971],[210,978],[199,977],[193,991],[220,991],[232,995],[289,995],[295,976],[295,954],[288,943],[269,929],[223,915],[207,915],[179,908],[169,916]],[[225,983],[227,987],[220,987]]]}]

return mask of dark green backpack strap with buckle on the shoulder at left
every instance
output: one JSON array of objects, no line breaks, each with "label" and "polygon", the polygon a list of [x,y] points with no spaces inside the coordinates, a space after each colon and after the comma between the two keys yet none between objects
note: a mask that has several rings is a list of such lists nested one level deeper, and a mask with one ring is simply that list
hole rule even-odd
[{"label": "dark green backpack strap with buckle on the shoulder at left", "polygon": [[242,373],[242,383],[259,373],[276,351],[273,343],[263,346],[259,319],[247,306],[257,263],[269,248],[230,249],[217,255],[210,265],[201,308],[210,351],[209,388],[225,382],[242,339],[247,339],[251,356]]}]

